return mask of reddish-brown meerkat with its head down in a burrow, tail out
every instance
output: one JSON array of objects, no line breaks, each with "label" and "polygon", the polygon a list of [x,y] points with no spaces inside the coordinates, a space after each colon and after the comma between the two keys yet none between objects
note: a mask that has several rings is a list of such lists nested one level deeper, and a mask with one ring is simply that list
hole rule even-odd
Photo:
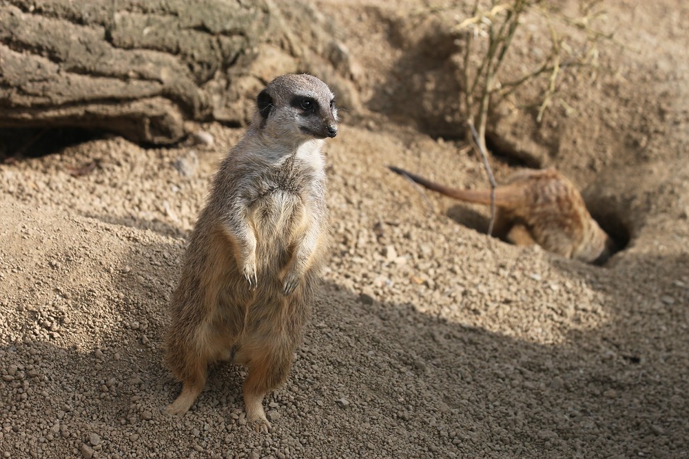
[{"label": "reddish-brown meerkat with its head down in a burrow, tail out", "polygon": [[[491,204],[490,190],[450,188],[398,167],[389,168],[450,198]],[[615,253],[615,242],[588,213],[574,184],[553,169],[515,173],[495,189],[495,207],[493,233],[513,244],[538,244],[558,255],[593,264],[603,264]]]}]

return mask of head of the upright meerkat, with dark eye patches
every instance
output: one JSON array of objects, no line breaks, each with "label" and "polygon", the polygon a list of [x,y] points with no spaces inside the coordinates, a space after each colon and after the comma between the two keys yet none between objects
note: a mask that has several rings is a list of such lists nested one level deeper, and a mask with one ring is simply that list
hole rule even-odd
[{"label": "head of the upright meerkat, with dark eye patches", "polygon": [[258,94],[256,105],[260,131],[280,142],[300,144],[338,134],[335,96],[315,76],[278,76]]}]

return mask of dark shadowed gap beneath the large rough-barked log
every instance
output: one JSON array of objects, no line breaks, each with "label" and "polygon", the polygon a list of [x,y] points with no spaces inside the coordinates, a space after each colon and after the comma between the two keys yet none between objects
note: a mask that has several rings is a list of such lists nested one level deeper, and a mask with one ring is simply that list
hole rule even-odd
[{"label": "dark shadowed gap beneath the large rough-barked log", "polygon": [[0,129],[0,161],[39,158],[105,136],[105,131],[78,127],[5,127]]}]

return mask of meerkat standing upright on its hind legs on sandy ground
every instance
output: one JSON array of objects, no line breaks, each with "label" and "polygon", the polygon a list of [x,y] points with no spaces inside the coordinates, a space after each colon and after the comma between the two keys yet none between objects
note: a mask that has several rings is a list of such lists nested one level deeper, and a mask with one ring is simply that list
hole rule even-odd
[{"label": "meerkat standing upright on its hind legs on sandy ground", "polygon": [[208,365],[234,360],[249,367],[247,418],[267,431],[263,397],[289,374],[327,251],[321,149],[338,124],[333,93],[315,76],[278,76],[256,103],[189,237],[166,337],[183,387],[165,411],[183,416]]}]

